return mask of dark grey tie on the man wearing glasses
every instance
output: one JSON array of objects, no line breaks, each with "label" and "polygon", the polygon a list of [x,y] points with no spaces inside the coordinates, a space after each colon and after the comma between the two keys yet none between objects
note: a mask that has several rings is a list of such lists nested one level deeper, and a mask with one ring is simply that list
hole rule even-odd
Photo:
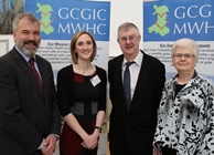
[{"label": "dark grey tie on the man wearing glasses", "polygon": [[135,63],[132,62],[127,62],[126,63],[126,70],[124,73],[124,91],[125,91],[125,96],[126,96],[126,103],[127,103],[127,111],[129,111],[130,104],[131,104],[131,89],[130,89],[130,72],[129,72],[129,66]]}]

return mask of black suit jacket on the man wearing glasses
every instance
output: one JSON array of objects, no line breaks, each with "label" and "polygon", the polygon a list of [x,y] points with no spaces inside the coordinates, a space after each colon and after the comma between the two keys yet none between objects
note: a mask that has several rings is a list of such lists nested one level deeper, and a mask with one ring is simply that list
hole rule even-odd
[{"label": "black suit jacket on the man wearing glasses", "polygon": [[121,76],[122,61],[124,55],[119,55],[108,63],[113,104],[109,128],[110,147],[126,149],[127,142],[130,151],[151,155],[157,110],[165,81],[164,65],[158,59],[143,53],[130,110],[127,112]]}]

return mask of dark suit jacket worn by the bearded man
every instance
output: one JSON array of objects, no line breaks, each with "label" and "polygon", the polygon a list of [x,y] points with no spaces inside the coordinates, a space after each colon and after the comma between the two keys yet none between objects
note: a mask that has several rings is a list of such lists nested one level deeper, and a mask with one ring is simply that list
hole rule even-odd
[{"label": "dark suit jacket worn by the bearded man", "polygon": [[61,122],[51,64],[36,55],[44,95],[24,58],[13,48],[0,58],[0,154],[40,155]]}]

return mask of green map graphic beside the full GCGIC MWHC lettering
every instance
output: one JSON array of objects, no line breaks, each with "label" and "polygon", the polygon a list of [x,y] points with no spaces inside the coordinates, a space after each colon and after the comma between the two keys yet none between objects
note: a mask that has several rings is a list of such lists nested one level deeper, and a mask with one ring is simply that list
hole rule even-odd
[{"label": "green map graphic beside the full GCGIC MWHC lettering", "polygon": [[54,31],[54,28],[51,25],[53,20],[51,20],[51,12],[53,11],[52,7],[49,4],[36,4],[39,10],[36,11],[41,13],[41,32],[44,32],[45,34],[50,34]]}]

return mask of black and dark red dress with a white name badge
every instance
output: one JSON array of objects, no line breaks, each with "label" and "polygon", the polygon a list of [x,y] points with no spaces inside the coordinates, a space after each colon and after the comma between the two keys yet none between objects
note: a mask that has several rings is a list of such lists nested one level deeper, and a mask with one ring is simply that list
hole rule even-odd
[{"label": "black and dark red dress with a white name badge", "polygon": [[[100,82],[93,85],[92,80],[97,78]],[[106,72],[96,66],[93,75],[85,76],[74,73],[72,65],[64,68],[57,75],[57,92],[62,116],[73,113],[83,128],[92,134],[97,112],[106,110]],[[60,140],[61,155],[97,154],[97,148],[87,149],[82,143],[81,136],[65,123]]]}]

